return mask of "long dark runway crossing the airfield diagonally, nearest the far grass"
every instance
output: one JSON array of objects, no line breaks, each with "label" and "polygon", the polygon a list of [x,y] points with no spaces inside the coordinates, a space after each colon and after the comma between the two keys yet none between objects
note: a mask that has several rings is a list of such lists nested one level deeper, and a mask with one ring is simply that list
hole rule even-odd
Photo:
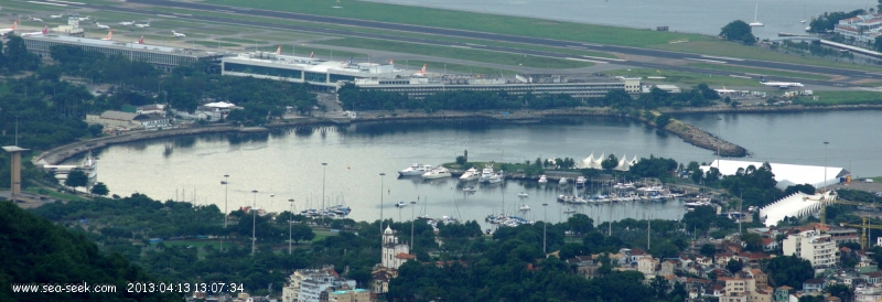
[{"label": "long dark runway crossing the airfield diagonally, nearest the far grass", "polygon": [[[280,19],[292,20],[292,21],[305,21],[305,22],[325,23],[325,24],[334,24],[334,25],[347,25],[347,26],[386,30],[386,31],[402,31],[402,32],[423,33],[423,34],[433,34],[433,35],[445,35],[445,36],[455,36],[455,37],[474,39],[474,40],[488,40],[488,41],[497,41],[497,42],[523,43],[523,44],[534,44],[534,45],[542,45],[542,46],[558,46],[558,47],[569,47],[569,48],[598,51],[598,52],[613,52],[613,53],[624,54],[626,56],[643,56],[643,57],[649,57],[649,58],[656,58],[656,60],[666,60],[666,61],[686,60],[686,61],[704,62],[704,63],[728,64],[728,65],[733,65],[733,66],[764,67],[764,68],[775,68],[775,69],[785,69],[785,71],[794,71],[794,72],[817,73],[817,74],[826,74],[826,75],[838,75],[838,76],[845,76],[845,77],[849,77],[849,78],[851,78],[851,77],[860,77],[860,78],[882,79],[882,74],[857,72],[857,71],[843,69],[843,68],[807,66],[807,65],[799,65],[799,64],[778,63],[778,62],[768,62],[768,61],[759,61],[759,60],[744,60],[744,58],[732,58],[732,57],[721,57],[721,56],[697,55],[697,54],[688,54],[688,53],[671,52],[671,51],[660,51],[660,50],[650,50],[650,48],[641,48],[641,47],[628,47],[628,46],[615,46],[615,45],[605,45],[605,44],[582,43],[582,42],[576,42],[576,41],[562,41],[562,40],[544,39],[544,37],[531,37],[531,36],[519,36],[519,35],[509,35],[509,34],[477,32],[477,31],[465,31],[465,30],[454,30],[454,29],[431,28],[431,26],[410,25],[410,24],[400,24],[400,23],[388,23],[388,22],[380,22],[380,21],[368,21],[368,20],[346,19],[346,18],[336,18],[336,17],[313,15],[313,14],[303,14],[303,13],[293,13],[293,12],[278,12],[278,11],[268,11],[268,10],[258,10],[258,9],[247,9],[247,8],[236,8],[236,7],[206,4],[206,3],[200,3],[200,2],[179,2],[179,1],[169,1],[169,0],[129,0],[128,2],[130,2],[130,3],[139,3],[139,4],[152,4],[152,6],[161,6],[161,7],[191,9],[191,10],[200,10],[200,11],[212,11],[212,12],[222,12],[222,13],[237,13],[237,14],[251,15],[251,17],[270,17],[270,18],[280,18]],[[78,4],[76,7],[92,8],[92,9],[106,10],[106,11],[140,13],[140,14],[157,14],[157,12],[154,12],[154,11],[137,9],[137,8],[129,8],[129,7],[125,7],[123,8],[123,7],[99,6],[99,4]],[[548,57],[557,57],[557,58],[582,60],[582,61],[590,61],[590,62],[595,62],[595,63],[601,63],[601,64],[602,63],[617,63],[617,64],[626,64],[626,65],[630,65],[630,66],[643,67],[643,68],[665,68],[665,69],[684,71],[684,72],[699,72],[699,73],[703,73],[703,74],[727,75],[727,76],[728,75],[732,75],[732,74],[740,75],[740,76],[745,76],[746,75],[746,74],[743,74],[743,73],[717,72],[717,71],[710,71],[710,69],[684,67],[684,66],[676,66],[676,65],[668,65],[668,64],[660,64],[660,63],[653,63],[653,62],[634,61],[634,60],[631,60],[631,61],[627,61],[627,62],[620,62],[620,61],[611,60],[611,58],[601,58],[601,57],[592,57],[592,56],[574,56],[574,55],[571,55],[571,54],[561,54],[561,53],[555,53],[555,52],[520,50],[520,48],[501,47],[501,46],[492,46],[492,45],[481,45],[481,44],[473,44],[473,43],[456,43],[456,42],[447,42],[447,41],[435,41],[435,40],[430,40],[430,39],[402,37],[402,36],[386,35],[386,34],[352,32],[352,31],[337,30],[337,29],[323,29],[323,28],[298,26],[298,25],[281,25],[281,24],[263,23],[263,22],[249,21],[249,20],[233,20],[233,19],[228,19],[228,18],[214,18],[214,17],[202,17],[202,15],[191,15],[191,14],[174,14],[174,15],[176,18],[180,18],[180,19],[189,19],[189,20],[195,20],[195,21],[238,23],[238,24],[243,24],[243,25],[252,25],[252,26],[281,29],[281,30],[293,30],[293,31],[304,31],[304,32],[311,32],[311,33],[323,33],[323,34],[329,34],[329,35],[357,36],[357,37],[379,39],[379,40],[389,40],[389,41],[401,41],[401,42],[410,42],[410,43],[422,43],[422,44],[439,45],[439,46],[456,46],[456,47],[464,47],[464,48],[507,52],[507,53],[535,55],[535,56],[548,56]],[[755,75],[746,75],[746,76],[754,77]],[[846,85],[846,86],[848,85],[848,84],[841,84],[841,83],[835,83],[835,82],[807,80],[807,79],[787,78],[787,77],[775,77],[775,80],[800,82],[800,83],[809,84],[809,85],[840,86],[840,87],[843,86],[843,85]]]}]

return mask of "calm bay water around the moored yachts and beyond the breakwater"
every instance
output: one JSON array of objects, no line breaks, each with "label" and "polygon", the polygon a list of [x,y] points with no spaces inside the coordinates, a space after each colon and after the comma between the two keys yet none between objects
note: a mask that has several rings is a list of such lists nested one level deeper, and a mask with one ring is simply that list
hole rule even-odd
[{"label": "calm bay water around the moored yachts and beyond the breakwater", "polygon": [[[824,164],[822,141],[829,140],[829,164],[848,166],[858,175],[882,175],[882,150],[878,128],[879,111],[827,114],[689,116],[684,120],[754,152],[752,160]],[[721,119],[719,119],[721,118]],[[860,129],[860,130],[853,130]],[[374,220],[384,217],[407,220],[412,215],[453,216],[478,219],[487,214],[514,213],[523,199],[533,211],[524,216],[541,219],[542,203],[548,203],[548,219],[566,219],[569,207],[555,201],[557,185],[537,187],[534,183],[508,181],[505,185],[480,187],[464,194],[456,180],[421,181],[398,179],[396,171],[413,162],[440,164],[469,150],[472,161],[525,161],[551,157],[582,159],[592,152],[617,155],[674,158],[678,161],[713,160],[710,151],[695,148],[677,137],[617,119],[553,125],[482,123],[379,123],[353,125],[284,131],[257,138],[205,136],[155,140],[118,145],[99,153],[98,180],[111,193],[146,193],[154,198],[214,203],[224,208],[224,186],[229,174],[229,209],[251,205],[270,212],[294,206],[321,207],[324,203],[345,204],[354,209],[351,218]],[[166,151],[170,150],[170,151]],[[323,166],[321,163],[326,162]],[[380,172],[386,176],[379,176]],[[323,181],[324,179],[324,181]],[[380,188],[383,187],[383,188]],[[251,193],[258,190],[257,194]],[[322,193],[324,191],[324,194]],[[275,197],[270,197],[275,194]],[[380,207],[380,195],[384,206]],[[394,206],[398,201],[419,201],[417,207]],[[424,205],[423,205],[424,204]],[[624,217],[681,217],[677,202],[667,204],[624,203],[574,206],[595,222]]]}]

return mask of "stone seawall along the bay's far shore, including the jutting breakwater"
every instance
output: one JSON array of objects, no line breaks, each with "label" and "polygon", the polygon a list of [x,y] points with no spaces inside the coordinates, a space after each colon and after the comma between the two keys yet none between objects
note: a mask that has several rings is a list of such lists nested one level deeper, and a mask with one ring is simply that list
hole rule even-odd
[{"label": "stone seawall along the bay's far shore, including the jutting breakwater", "polygon": [[[680,108],[680,109],[659,109],[658,111],[667,115],[702,115],[702,114],[763,114],[763,112],[804,112],[804,111],[836,111],[836,110],[882,110],[882,105],[836,105],[836,106],[744,106],[744,107],[706,107],[706,108]],[[402,111],[365,111],[358,112],[358,118],[348,119],[325,119],[325,118],[303,118],[284,120],[267,127],[234,127],[230,125],[214,125],[206,127],[179,128],[161,131],[132,131],[119,136],[108,136],[90,140],[77,141],[65,145],[60,145],[35,155],[32,162],[35,165],[58,164],[78,154],[107,148],[115,144],[125,144],[143,140],[160,138],[196,136],[208,133],[244,133],[244,132],[265,132],[269,129],[335,126],[346,123],[362,123],[376,121],[455,121],[464,119],[478,119],[503,123],[541,123],[544,120],[572,117],[613,117],[625,118],[641,121],[647,126],[655,127],[648,120],[627,116],[610,108],[577,108],[577,109],[548,109],[548,110],[485,110],[485,111],[438,111],[426,112],[402,112]],[[684,141],[710,151],[717,151],[723,157],[745,157],[749,154],[743,147],[721,140],[707,131],[687,125],[688,129],[670,129],[665,131],[677,134]],[[662,129],[659,129],[662,130]]]}]

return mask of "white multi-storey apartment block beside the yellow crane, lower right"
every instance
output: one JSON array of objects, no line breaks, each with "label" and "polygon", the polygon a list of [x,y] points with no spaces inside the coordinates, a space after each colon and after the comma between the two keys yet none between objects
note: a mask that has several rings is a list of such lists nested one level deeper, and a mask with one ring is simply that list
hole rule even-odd
[{"label": "white multi-storey apartment block beside the yellow crane, lower right", "polygon": [[784,255],[796,256],[811,262],[811,267],[826,269],[836,265],[838,259],[836,242],[829,235],[819,235],[815,230],[790,234],[782,244]]}]

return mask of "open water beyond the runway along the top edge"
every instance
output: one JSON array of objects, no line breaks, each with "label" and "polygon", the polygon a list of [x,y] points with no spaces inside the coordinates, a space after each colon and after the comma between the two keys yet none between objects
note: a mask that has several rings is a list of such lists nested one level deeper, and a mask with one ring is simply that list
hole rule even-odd
[{"label": "open water beyond the runway along the top edge", "polygon": [[[733,20],[765,23],[761,37],[802,33],[813,15],[875,6],[868,0],[375,0],[377,2],[542,18],[592,24],[649,28],[717,35]],[[759,4],[759,10],[756,6]],[[806,23],[799,23],[806,20]]]}]

